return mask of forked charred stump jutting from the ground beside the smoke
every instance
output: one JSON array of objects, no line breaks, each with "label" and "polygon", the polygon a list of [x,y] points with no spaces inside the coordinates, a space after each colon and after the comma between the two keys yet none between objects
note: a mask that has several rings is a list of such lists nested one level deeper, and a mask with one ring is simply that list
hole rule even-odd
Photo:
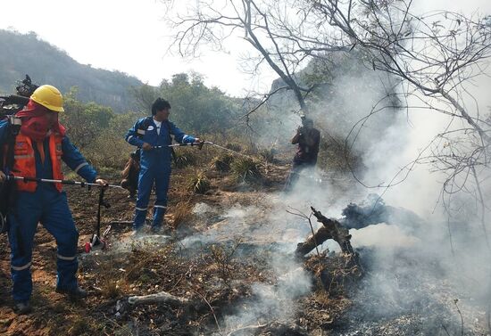
[{"label": "forked charred stump jutting from the ground beside the smoke", "polygon": [[326,242],[328,239],[332,239],[339,244],[343,253],[354,254],[353,247],[351,246],[351,234],[349,230],[341,225],[337,220],[325,217],[320,211],[311,207],[313,216],[317,218],[317,221],[322,223],[322,227],[312,235],[306,242],[299,242],[296,246],[295,255],[297,257],[303,257],[318,245]]}]

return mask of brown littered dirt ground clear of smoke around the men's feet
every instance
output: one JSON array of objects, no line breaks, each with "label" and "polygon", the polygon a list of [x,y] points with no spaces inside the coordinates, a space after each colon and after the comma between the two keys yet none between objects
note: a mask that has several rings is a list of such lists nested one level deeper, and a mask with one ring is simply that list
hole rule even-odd
[{"label": "brown littered dirt ground clear of smoke around the men's feet", "polygon": [[[10,294],[10,251],[3,235],[0,237],[0,334],[182,335],[224,332],[219,322],[221,316],[229,314],[239,302],[254,296],[251,291],[253,283],[274,284],[278,281],[277,275],[270,271],[266,262],[261,262],[261,258],[266,258],[261,253],[254,258],[235,258],[233,254],[239,243],[233,246],[229,242],[204,244],[199,249],[179,248],[180,240],[204,232],[210,225],[210,218],[198,220],[190,210],[196,204],[216,209],[227,209],[233,204],[253,204],[258,197],[279,191],[287,170],[287,164],[279,165],[279,168],[270,169],[261,184],[249,186],[237,186],[227,174],[209,172],[211,190],[197,195],[185,187],[187,170],[175,169],[166,222],[178,227],[172,228],[165,239],[157,237],[158,242],[152,241],[155,236],[151,235],[139,241],[131,239],[134,201],[125,191],[109,190],[105,200],[111,207],[103,209],[102,228],[104,231],[107,225],[112,225],[108,236],[110,247],[107,252],[89,254],[84,252],[83,246],[96,225],[98,191],[65,187],[80,234],[79,283],[90,295],[85,300],[70,301],[54,292],[56,244],[46,229],[39,225],[31,267],[34,286],[31,305],[34,311],[27,316],[16,316],[12,311]],[[111,183],[119,182],[116,174],[112,174],[110,179]],[[176,211],[180,211],[179,214]],[[176,216],[179,216],[179,225],[175,223]],[[161,304],[125,307],[120,313],[116,311],[118,302],[127,305],[126,299],[131,295],[159,291],[192,299],[196,307]],[[299,299],[299,304],[305,307],[300,309],[299,321],[304,321],[305,325],[312,324],[315,319],[318,320],[317,325],[329,323],[337,312],[343,310],[343,306],[347,306],[339,305],[338,300],[336,304],[334,302],[326,295],[313,301]],[[312,307],[315,319],[312,318],[314,316],[304,316],[309,307]],[[289,330],[294,332],[295,328],[285,321],[278,321],[276,324],[253,325],[250,329],[245,326],[242,331],[237,330],[237,334],[268,330],[283,334]]]}]

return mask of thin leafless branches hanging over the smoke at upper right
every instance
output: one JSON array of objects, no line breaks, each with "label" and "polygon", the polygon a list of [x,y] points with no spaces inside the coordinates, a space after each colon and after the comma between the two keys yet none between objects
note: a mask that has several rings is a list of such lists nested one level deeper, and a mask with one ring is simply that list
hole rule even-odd
[{"label": "thin leafless branches hanging over the smoke at upper right", "polygon": [[[490,174],[491,124],[489,114],[479,111],[479,102],[470,93],[475,80],[487,75],[489,18],[444,11],[416,15],[411,12],[412,1],[327,0],[304,5],[315,12],[311,20],[326,22],[342,31],[346,40],[362,47],[372,69],[400,79],[396,95],[406,109],[425,109],[447,117],[445,130],[385,186],[402,182],[416,164],[431,164],[445,176],[445,208],[450,209],[448,203],[455,193],[469,193],[477,201],[489,248],[485,218],[488,189],[481,184],[488,182]],[[380,102],[366,119],[385,108],[387,105]],[[355,125],[352,139],[366,119]]]}]

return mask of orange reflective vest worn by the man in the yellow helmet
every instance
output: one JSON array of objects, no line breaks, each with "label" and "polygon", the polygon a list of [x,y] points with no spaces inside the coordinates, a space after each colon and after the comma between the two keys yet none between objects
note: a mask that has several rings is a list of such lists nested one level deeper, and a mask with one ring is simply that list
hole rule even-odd
[{"label": "orange reflective vest worn by the man in the yellow helmet", "polygon": [[[53,167],[53,179],[62,180],[62,136],[58,134],[49,135],[49,156]],[[36,177],[36,159],[34,156],[34,147],[29,136],[21,133],[15,138],[13,148],[13,168],[14,176]],[[62,184],[54,184],[56,189],[61,192]],[[17,181],[17,190],[21,192],[34,193],[36,191],[36,182]]]}]

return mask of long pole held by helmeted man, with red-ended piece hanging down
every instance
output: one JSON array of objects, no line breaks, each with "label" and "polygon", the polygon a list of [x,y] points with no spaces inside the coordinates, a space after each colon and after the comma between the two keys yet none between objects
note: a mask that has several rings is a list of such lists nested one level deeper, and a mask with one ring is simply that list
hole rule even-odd
[{"label": "long pole held by helmeted man, with red-ended piece hanging down", "polygon": [[84,250],[88,253],[91,250],[104,250],[107,247],[106,236],[109,234],[111,230],[111,225],[107,226],[104,230],[104,234],[101,236],[101,208],[111,208],[111,204],[109,202],[104,201],[104,192],[107,188],[118,188],[123,189],[120,185],[115,184],[96,184],[89,182],[79,182],[73,180],[54,180],[49,178],[37,178],[37,177],[27,177],[27,176],[6,176],[7,181],[17,180],[23,181],[25,183],[28,182],[37,182],[37,183],[50,183],[50,184],[69,184],[69,185],[80,185],[80,187],[84,188],[87,186],[90,189],[92,186],[99,187],[99,201],[97,204],[97,221],[96,221],[96,230],[95,233],[92,234],[90,241],[86,242],[84,245]]}]

